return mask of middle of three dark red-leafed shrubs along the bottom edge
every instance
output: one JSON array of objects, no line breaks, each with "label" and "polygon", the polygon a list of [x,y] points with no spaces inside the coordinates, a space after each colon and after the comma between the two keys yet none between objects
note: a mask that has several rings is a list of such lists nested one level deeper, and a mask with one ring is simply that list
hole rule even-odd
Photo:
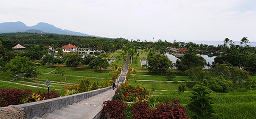
[{"label": "middle of three dark red-leafed shrubs along the bottom edge", "polygon": [[152,118],[152,110],[147,101],[139,101],[131,107],[133,118]]}]

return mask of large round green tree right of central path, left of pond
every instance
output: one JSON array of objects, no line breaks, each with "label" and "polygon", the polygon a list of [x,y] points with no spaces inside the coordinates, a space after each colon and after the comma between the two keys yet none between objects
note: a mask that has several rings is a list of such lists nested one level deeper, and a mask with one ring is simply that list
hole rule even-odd
[{"label": "large round green tree right of central path, left of pond", "polygon": [[161,75],[162,71],[165,71],[172,66],[172,61],[170,61],[170,59],[166,55],[159,53],[155,53],[152,56],[149,56],[147,62],[148,71],[160,70]]}]

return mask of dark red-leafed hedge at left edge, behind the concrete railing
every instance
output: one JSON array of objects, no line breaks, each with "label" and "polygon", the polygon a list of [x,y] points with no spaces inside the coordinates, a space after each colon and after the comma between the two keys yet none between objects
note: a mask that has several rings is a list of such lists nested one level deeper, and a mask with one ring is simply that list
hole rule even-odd
[{"label": "dark red-leafed hedge at left edge, behind the concrete railing", "polygon": [[0,107],[21,104],[30,92],[30,89],[0,89]]}]

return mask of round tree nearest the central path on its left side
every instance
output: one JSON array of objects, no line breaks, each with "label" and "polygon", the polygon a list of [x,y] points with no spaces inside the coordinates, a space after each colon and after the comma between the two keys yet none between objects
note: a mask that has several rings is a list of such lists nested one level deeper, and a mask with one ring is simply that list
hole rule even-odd
[{"label": "round tree nearest the central path on its left side", "polygon": [[89,66],[94,69],[101,70],[102,68],[106,69],[109,65],[106,59],[103,59],[101,56],[97,56],[89,62]]}]

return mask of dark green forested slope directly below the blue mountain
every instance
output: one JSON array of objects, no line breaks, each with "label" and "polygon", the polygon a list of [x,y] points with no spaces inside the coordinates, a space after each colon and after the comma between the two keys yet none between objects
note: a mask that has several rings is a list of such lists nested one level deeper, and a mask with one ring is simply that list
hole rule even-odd
[{"label": "dark green forested slope directly below the blue mountain", "polygon": [[76,45],[78,47],[90,47],[90,48],[109,48],[112,44],[121,47],[128,42],[124,38],[103,38],[93,36],[77,36],[77,35],[63,35],[63,34],[38,34],[38,33],[4,33],[0,34],[0,40],[2,45],[8,49],[21,44],[23,46],[41,44],[51,45],[53,47],[61,47],[68,43]]}]

